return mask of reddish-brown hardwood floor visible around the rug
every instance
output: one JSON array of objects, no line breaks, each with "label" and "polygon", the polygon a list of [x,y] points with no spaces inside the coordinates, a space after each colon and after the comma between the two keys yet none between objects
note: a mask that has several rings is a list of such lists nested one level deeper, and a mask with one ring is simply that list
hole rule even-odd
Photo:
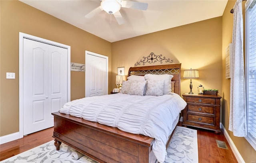
[{"label": "reddish-brown hardwood floor visible around the rug", "polygon": [[[198,163],[238,163],[223,133],[214,134],[214,132],[206,130],[197,131]],[[53,128],[48,128],[29,134],[22,139],[0,145],[0,161],[53,140],[52,133]],[[228,149],[219,148],[216,139],[225,141]]]}]

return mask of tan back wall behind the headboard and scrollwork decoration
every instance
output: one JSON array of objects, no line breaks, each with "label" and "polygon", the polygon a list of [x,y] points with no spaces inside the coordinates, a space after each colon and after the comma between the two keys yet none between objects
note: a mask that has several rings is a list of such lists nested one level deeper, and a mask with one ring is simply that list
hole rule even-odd
[{"label": "tan back wall behind the headboard and scrollwork decoration", "polygon": [[[204,88],[219,89],[222,77],[222,17],[204,20],[112,43],[112,87],[118,67],[129,67],[148,56],[156,55],[182,63],[184,69],[198,69],[199,79],[192,80],[194,93],[202,84]],[[160,63],[158,63],[160,64]],[[188,93],[190,80],[182,79],[181,94]]]}]

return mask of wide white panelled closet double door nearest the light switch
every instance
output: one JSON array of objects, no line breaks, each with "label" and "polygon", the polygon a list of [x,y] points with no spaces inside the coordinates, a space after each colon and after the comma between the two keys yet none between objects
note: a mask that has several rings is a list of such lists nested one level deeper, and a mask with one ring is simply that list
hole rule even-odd
[{"label": "wide white panelled closet double door nearest the light switch", "polygon": [[51,113],[67,102],[67,49],[24,38],[23,134],[54,126]]}]

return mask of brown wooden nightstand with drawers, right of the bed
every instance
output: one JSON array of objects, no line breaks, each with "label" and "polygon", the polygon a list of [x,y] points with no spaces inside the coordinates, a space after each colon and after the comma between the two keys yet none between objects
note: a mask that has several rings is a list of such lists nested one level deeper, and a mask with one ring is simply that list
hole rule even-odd
[{"label": "brown wooden nightstand with drawers, right of the bed", "polygon": [[187,102],[183,110],[182,126],[212,130],[220,134],[220,99],[219,95],[182,94]]}]

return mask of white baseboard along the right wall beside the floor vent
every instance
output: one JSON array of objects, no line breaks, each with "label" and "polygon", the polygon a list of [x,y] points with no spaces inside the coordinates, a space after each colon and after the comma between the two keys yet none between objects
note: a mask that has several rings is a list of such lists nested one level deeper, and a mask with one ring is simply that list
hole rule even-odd
[{"label": "white baseboard along the right wall beside the floor vent", "polygon": [[224,126],[221,122],[220,122],[220,128],[221,128],[222,132],[224,133],[224,136],[226,137],[228,144],[230,145],[230,148],[233,151],[238,163],[245,163],[244,159],[242,158],[239,151],[237,150],[236,145],[233,143],[231,137],[228,135],[227,130],[224,128]]}]

